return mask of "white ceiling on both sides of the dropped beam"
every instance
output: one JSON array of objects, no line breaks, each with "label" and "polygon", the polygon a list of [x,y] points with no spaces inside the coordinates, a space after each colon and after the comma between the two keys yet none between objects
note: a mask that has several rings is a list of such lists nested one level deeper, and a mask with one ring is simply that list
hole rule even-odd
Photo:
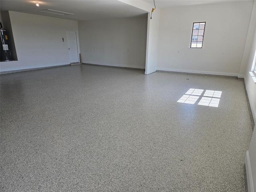
[{"label": "white ceiling on both sides of the dropped beam", "polygon": [[[36,6],[36,1],[40,6]],[[143,0],[154,7],[153,0]],[[209,4],[215,2],[231,2],[235,0],[155,0],[157,8],[174,6]],[[38,10],[52,9],[74,15],[58,15]],[[44,15],[70,20],[97,20],[112,18],[128,18],[140,16],[147,12],[118,0],[0,0],[1,11],[16,11],[29,14]]]}]

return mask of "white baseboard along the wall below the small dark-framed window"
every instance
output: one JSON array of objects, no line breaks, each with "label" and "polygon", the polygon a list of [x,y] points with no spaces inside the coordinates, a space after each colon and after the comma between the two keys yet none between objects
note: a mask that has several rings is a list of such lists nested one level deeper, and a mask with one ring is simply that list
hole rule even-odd
[{"label": "white baseboard along the wall below the small dark-framed window", "polygon": [[182,72],[182,73],[197,73],[197,74],[223,75],[223,76],[235,76],[235,77],[238,77],[237,73],[224,73],[224,72],[214,72],[214,71],[196,71],[196,70],[169,69],[169,68],[156,68],[156,70],[159,70],[159,71]]}]

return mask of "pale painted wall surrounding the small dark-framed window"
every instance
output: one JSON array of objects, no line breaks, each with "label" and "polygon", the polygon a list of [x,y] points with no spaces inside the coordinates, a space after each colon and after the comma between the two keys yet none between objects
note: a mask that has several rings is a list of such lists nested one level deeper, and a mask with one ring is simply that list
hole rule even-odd
[{"label": "pale painted wall surrounding the small dark-framed window", "polygon": [[[157,69],[238,76],[252,4],[232,1],[163,9]],[[192,23],[204,21],[203,48],[188,49]]]}]

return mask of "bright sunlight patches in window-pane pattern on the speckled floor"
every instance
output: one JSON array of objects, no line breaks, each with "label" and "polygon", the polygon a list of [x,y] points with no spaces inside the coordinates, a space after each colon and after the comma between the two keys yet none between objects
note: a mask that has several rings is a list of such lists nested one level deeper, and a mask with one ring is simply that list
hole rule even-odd
[{"label": "bright sunlight patches in window-pane pattern on the speckled floor", "polygon": [[[190,88],[177,102],[195,104],[201,97],[203,89]],[[218,107],[222,91],[206,90],[198,105]]]}]

